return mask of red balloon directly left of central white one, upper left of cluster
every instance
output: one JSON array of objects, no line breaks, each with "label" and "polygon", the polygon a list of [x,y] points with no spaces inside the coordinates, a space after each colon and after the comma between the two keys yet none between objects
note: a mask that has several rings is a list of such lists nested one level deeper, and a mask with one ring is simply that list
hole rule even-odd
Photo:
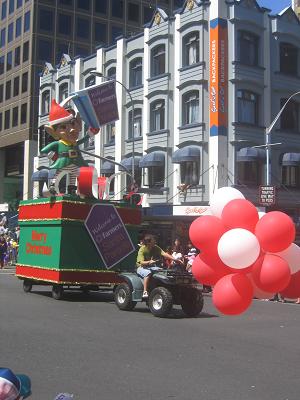
[{"label": "red balloon directly left of central white one, upper left of cluster", "polygon": [[189,230],[191,242],[202,251],[214,251],[220,237],[226,232],[223,222],[213,215],[195,219]]}]

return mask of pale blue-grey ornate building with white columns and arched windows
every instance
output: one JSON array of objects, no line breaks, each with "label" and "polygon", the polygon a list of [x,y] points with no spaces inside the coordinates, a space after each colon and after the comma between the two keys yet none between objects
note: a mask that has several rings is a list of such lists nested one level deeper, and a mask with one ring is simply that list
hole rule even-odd
[{"label": "pale blue-grey ornate building with white columns and arched windows", "polygon": [[[61,100],[63,87],[67,95],[88,86],[91,71],[121,82],[127,90],[116,83],[119,120],[101,128],[90,151],[129,169],[134,162],[145,225],[165,237],[187,237],[188,224],[207,211],[218,187],[234,185],[260,205],[266,127],[297,91],[299,35],[291,7],[271,16],[255,0],[187,0],[170,15],[157,9],[141,34],[119,38],[87,58],[65,54],[57,68],[46,64],[39,124],[47,123],[45,99]],[[269,209],[284,210],[295,221],[299,101],[294,95],[286,105],[271,135],[280,145],[270,147],[277,195]],[[47,140],[41,132],[40,146]],[[93,157],[91,162],[99,175],[122,170]],[[46,157],[35,158],[35,170],[48,165]],[[111,198],[121,198],[129,185],[125,174],[117,174]]]}]

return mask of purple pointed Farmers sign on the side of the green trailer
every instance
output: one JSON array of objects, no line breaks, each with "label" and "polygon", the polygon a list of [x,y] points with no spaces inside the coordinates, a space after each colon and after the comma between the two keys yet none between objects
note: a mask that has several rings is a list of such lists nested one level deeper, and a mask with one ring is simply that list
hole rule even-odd
[{"label": "purple pointed Farmers sign on the side of the green trailer", "polygon": [[107,269],[136,250],[115,206],[93,205],[84,224]]}]

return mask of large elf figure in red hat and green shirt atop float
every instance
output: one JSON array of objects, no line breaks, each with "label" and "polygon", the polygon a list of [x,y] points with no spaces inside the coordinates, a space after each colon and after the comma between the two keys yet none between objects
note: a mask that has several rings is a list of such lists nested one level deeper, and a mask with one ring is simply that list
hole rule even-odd
[{"label": "large elf figure in red hat and green shirt atop float", "polygon": [[82,128],[79,114],[74,110],[61,107],[52,100],[49,113],[49,125],[45,126],[46,132],[57,139],[41,149],[41,153],[48,153],[48,157],[54,162],[49,167],[56,169],[53,179],[50,181],[49,190],[43,190],[45,195],[55,195],[59,191],[59,182],[66,174],[69,175],[68,193],[76,193],[76,178],[80,167],[87,167],[88,163],[83,159],[78,146],[89,140],[99,132],[99,129],[90,128],[88,135],[78,140]]}]

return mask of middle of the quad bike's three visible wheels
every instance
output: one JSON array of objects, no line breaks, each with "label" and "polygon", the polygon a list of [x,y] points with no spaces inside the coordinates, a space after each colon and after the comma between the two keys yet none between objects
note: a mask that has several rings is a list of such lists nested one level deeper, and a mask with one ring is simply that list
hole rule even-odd
[{"label": "middle of the quad bike's three visible wheels", "polygon": [[170,314],[173,307],[173,295],[165,287],[152,290],[148,300],[149,309],[155,317],[164,318]]}]

